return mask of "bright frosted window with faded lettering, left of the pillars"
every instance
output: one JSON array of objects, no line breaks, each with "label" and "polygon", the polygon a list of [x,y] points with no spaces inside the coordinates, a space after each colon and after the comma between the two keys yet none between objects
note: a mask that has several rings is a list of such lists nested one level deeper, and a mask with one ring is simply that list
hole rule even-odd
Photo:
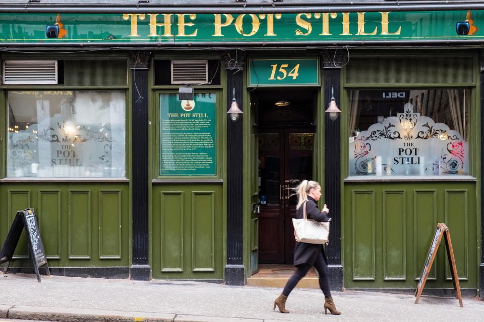
[{"label": "bright frosted window with faded lettering, left of the pillars", "polygon": [[7,176],[124,178],[124,91],[8,92]]}]

